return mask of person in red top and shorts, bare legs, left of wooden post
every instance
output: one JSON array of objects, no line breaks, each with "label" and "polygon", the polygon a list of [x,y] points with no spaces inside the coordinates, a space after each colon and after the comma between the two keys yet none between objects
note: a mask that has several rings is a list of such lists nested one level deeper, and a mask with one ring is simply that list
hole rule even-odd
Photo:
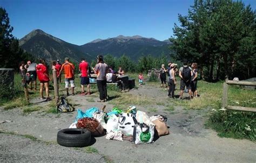
[{"label": "person in red top and shorts, bare legs, left of wooden post", "polygon": [[40,81],[40,95],[41,95],[40,100],[45,99],[45,97],[43,96],[43,88],[45,87],[46,101],[49,101],[50,100],[50,97],[49,97],[50,78],[49,78],[48,69],[46,67],[44,59],[39,60],[39,64],[37,65],[36,69],[37,69],[38,80]]}]

